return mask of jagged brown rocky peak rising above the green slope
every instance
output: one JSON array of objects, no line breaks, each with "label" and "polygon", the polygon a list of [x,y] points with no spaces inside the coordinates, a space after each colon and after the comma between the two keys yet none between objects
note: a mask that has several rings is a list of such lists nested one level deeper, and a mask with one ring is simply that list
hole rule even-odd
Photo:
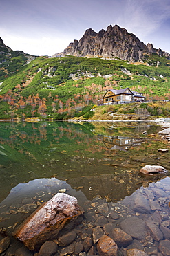
[{"label": "jagged brown rocky peak rising above the green slope", "polygon": [[121,60],[136,62],[142,61],[145,54],[150,53],[170,57],[169,53],[153,48],[152,44],[145,45],[140,42],[136,35],[128,33],[125,28],[110,25],[106,31],[100,30],[98,33],[94,32],[92,28],[87,29],[80,41],[74,40],[73,43],[70,43],[63,55],[107,57],[110,59],[118,57]]}]

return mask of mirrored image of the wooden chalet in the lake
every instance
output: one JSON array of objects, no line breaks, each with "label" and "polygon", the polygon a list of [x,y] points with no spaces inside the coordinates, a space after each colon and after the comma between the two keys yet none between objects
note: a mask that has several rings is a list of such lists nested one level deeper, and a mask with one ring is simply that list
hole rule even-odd
[{"label": "mirrored image of the wooden chalet in the lake", "polygon": [[130,147],[136,147],[142,144],[141,138],[130,138],[123,136],[107,136],[99,135],[99,140],[102,140],[105,147],[110,150],[128,150]]}]

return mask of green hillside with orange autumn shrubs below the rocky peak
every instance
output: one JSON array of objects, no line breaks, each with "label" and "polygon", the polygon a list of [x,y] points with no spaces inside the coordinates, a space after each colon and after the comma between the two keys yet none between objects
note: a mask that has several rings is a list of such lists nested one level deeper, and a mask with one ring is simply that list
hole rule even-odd
[{"label": "green hillside with orange autumn shrubs below the rocky peak", "polygon": [[[149,101],[170,100],[170,60],[156,54],[138,65],[73,56],[36,57],[26,64],[27,57],[16,54],[0,64],[1,119],[92,118],[90,109],[107,90],[125,87],[143,93]],[[146,109],[153,115],[167,113]]]}]

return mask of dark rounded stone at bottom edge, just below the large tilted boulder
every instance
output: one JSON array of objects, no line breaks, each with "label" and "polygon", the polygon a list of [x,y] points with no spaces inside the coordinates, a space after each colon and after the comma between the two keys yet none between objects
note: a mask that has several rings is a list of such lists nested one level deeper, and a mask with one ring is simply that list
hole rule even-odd
[{"label": "dark rounded stone at bottom edge, just below the large tilted boulder", "polygon": [[57,252],[58,245],[54,241],[45,241],[39,250],[38,256],[52,256]]}]

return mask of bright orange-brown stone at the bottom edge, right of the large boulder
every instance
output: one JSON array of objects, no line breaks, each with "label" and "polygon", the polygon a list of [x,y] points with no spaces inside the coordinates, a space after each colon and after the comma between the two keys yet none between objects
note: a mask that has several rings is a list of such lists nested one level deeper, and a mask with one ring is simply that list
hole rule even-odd
[{"label": "bright orange-brown stone at the bottom edge, right of the large boulder", "polygon": [[118,246],[113,239],[107,235],[103,235],[97,244],[98,253],[100,256],[117,256]]}]

